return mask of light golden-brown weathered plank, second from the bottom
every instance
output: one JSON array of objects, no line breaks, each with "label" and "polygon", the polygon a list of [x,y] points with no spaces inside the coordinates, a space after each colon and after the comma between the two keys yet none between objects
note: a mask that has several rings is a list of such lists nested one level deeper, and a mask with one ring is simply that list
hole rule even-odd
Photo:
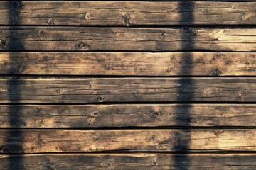
[{"label": "light golden-brown weathered plank, second from the bottom", "polygon": [[0,130],[1,152],[255,151],[256,130]]}]

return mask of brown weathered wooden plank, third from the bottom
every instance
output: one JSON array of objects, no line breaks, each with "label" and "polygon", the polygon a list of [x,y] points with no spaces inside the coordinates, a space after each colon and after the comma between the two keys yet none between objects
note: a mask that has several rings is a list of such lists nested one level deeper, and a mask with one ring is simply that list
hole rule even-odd
[{"label": "brown weathered wooden plank, third from the bottom", "polygon": [[0,128],[256,126],[255,115],[255,104],[2,105]]}]

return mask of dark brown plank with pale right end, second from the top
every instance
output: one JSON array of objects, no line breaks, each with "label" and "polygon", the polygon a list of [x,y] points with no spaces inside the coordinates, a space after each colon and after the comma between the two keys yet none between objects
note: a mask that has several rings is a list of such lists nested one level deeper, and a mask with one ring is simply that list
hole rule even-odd
[{"label": "dark brown plank with pale right end, second from the top", "polygon": [[1,27],[0,50],[256,51],[256,29]]}]

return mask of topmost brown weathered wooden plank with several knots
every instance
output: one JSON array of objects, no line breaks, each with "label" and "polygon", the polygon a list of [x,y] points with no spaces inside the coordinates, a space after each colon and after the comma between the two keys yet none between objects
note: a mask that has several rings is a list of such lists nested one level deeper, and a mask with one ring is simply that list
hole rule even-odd
[{"label": "topmost brown weathered wooden plank with several knots", "polygon": [[[209,8],[210,6],[210,8]],[[256,2],[0,1],[1,25],[256,24]]]}]

